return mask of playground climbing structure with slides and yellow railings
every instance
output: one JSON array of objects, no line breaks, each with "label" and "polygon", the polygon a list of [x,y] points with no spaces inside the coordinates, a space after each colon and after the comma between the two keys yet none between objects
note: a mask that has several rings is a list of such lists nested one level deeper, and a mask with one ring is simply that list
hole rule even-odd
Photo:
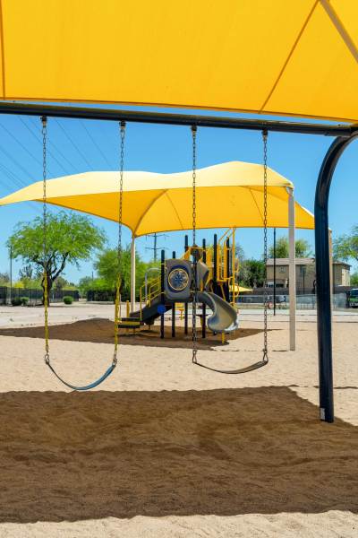
[{"label": "playground climbing structure with slides and yellow railings", "polygon": [[[185,236],[184,254],[176,259],[166,259],[161,252],[161,272],[157,278],[143,284],[140,289],[140,308],[132,311],[129,317],[122,317],[121,328],[138,329],[141,325],[154,324],[160,317],[160,337],[164,338],[164,317],[172,311],[172,337],[175,337],[175,305],[183,303],[184,334],[188,334],[188,305],[192,302],[192,256],[198,259],[198,300],[202,304],[200,322],[201,336],[206,337],[207,322],[214,334],[233,332],[238,327],[236,299],[239,287],[236,284],[239,260],[235,257],[235,230],[227,230],[213,244],[207,246],[203,239],[202,247],[189,247],[189,237]],[[207,320],[207,307],[212,315]]]}]

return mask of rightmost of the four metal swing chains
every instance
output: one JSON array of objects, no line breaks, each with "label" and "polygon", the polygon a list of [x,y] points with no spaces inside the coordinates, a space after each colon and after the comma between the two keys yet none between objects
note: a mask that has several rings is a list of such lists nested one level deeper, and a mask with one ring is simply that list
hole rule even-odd
[{"label": "rightmost of the four metal swing chains", "polygon": [[262,130],[263,141],[263,259],[265,264],[263,282],[263,357],[268,362],[268,130]]}]

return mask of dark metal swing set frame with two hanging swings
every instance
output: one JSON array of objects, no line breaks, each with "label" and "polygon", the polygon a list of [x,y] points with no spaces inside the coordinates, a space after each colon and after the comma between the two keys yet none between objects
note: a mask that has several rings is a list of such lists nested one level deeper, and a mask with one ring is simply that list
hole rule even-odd
[{"label": "dark metal swing set frame with two hanging swings", "polygon": [[[86,107],[66,107],[59,105],[44,105],[44,104],[21,104],[17,102],[0,103],[0,114],[10,115],[27,115],[30,117],[43,117],[45,120],[47,117],[68,117],[77,119],[95,119],[95,120],[107,120],[119,122],[121,125],[121,133],[123,135],[121,155],[124,159],[124,130],[125,124],[128,122],[142,123],[142,124],[157,124],[157,125],[173,125],[173,126],[195,126],[201,127],[215,127],[226,129],[243,129],[260,131],[264,140],[264,162],[267,160],[267,134],[268,132],[277,133],[292,133],[292,134],[311,134],[320,136],[334,136],[336,137],[334,142],[328,148],[328,152],[321,164],[320,174],[317,180],[315,205],[314,205],[314,217],[315,217],[315,252],[316,252],[316,281],[317,281],[317,325],[318,325],[318,350],[319,350],[319,386],[320,386],[320,420],[326,422],[334,421],[334,397],[333,397],[333,364],[332,364],[332,315],[331,315],[331,303],[330,303],[330,264],[329,264],[329,227],[328,227],[328,197],[334,171],[339,161],[340,156],[350,143],[352,143],[358,137],[358,126],[354,125],[337,125],[337,124],[323,124],[323,123],[309,123],[309,122],[294,122],[294,121],[278,121],[268,119],[247,119],[242,117],[217,117],[217,116],[194,116],[188,114],[169,114],[166,112],[143,112],[140,110],[120,110],[114,108],[86,108]],[[46,166],[46,134],[47,134],[47,121],[43,122],[43,138],[44,138],[44,193],[43,196],[39,195],[36,200],[41,199],[44,204],[44,250],[46,251],[46,230],[47,230],[47,166]],[[196,129],[194,129],[196,133]],[[266,138],[266,142],[265,142]],[[193,232],[196,229],[196,135],[193,136],[193,169],[192,169],[192,202],[193,204]],[[266,157],[265,157],[266,154]],[[123,205],[122,200],[122,188],[124,177],[123,162],[120,166],[119,174],[119,213]],[[122,187],[121,187],[122,185]],[[265,189],[266,190],[266,189]],[[122,230],[122,218],[118,213],[118,239],[121,239]],[[267,230],[265,230],[265,236],[267,238]],[[267,239],[266,239],[267,240]],[[118,256],[121,256],[122,245],[119,242]],[[193,260],[194,263],[194,260]],[[46,279],[45,279],[46,280]],[[291,279],[293,280],[293,279]],[[294,280],[293,280],[294,282]],[[192,288],[193,299],[195,301],[195,307],[197,302],[197,290],[195,290],[195,282]],[[264,323],[267,317],[268,302],[265,301]],[[94,386],[98,386],[102,383],[115,369],[117,364],[118,355],[118,334],[115,335],[115,352],[111,366],[107,369],[102,377],[99,377],[97,381],[88,386],[72,386],[72,384],[64,381],[50,364],[49,357],[49,343],[48,343],[48,312],[47,301],[45,302],[45,337],[46,337],[46,356],[47,365],[54,371],[55,376],[59,377],[66,386],[69,386],[73,390],[88,390]],[[116,307],[119,308],[119,307]],[[293,305],[294,311],[294,305]],[[117,309],[115,314],[116,319],[119,319],[119,312]],[[197,360],[197,339],[196,339],[196,326],[194,322],[192,331],[192,348],[193,348],[193,363],[199,363]],[[116,331],[116,327],[115,327]],[[294,331],[290,331],[294,336]],[[264,349],[262,360],[259,360],[259,366],[263,366],[268,362],[268,348],[267,348],[267,327],[264,331]],[[200,364],[200,366],[203,366]],[[206,367],[205,367],[206,368]],[[254,369],[254,367],[250,367]],[[243,373],[242,371],[238,373]]]}]

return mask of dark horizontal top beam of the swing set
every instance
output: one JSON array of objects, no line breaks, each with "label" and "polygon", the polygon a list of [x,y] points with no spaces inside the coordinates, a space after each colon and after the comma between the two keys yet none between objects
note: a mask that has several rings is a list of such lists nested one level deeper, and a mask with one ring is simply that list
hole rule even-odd
[{"label": "dark horizontal top beam of the swing set", "polygon": [[268,129],[280,133],[323,134],[326,136],[349,137],[358,133],[358,125],[320,124],[305,122],[276,121],[268,119],[248,119],[244,117],[218,117],[192,114],[169,114],[166,112],[142,112],[140,110],[121,110],[118,108],[68,107],[60,105],[0,102],[0,114],[24,116],[72,117],[126,121],[176,126],[220,127],[224,129],[248,129],[261,131]]}]

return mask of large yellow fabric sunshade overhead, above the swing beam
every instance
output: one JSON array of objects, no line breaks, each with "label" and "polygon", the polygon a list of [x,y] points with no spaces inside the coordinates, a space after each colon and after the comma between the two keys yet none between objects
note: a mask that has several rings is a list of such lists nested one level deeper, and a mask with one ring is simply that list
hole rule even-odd
[{"label": "large yellow fabric sunshade overhead, above the swing beam", "polygon": [[356,0],[0,0],[0,99],[358,120]]}]

